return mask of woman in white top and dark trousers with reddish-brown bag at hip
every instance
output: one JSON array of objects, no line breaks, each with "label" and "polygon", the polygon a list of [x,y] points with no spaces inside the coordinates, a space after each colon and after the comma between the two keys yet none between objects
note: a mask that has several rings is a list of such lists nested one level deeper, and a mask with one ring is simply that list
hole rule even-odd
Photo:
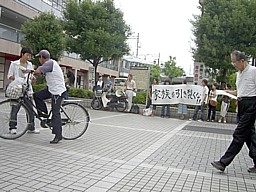
[{"label": "woman in white top and dark trousers with reddish-brown bag at hip", "polygon": [[208,108],[207,121],[212,121],[212,122],[215,121],[217,97],[218,97],[216,94],[216,89],[217,89],[217,83],[213,83],[212,90],[210,91],[210,94],[209,94],[209,103],[208,103],[209,108]]}]

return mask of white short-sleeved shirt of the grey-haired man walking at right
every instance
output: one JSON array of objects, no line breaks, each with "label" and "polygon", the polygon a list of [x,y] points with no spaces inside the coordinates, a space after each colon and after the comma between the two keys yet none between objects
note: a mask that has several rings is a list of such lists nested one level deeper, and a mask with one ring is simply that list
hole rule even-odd
[{"label": "white short-sleeved shirt of the grey-haired man walking at right", "polygon": [[242,72],[237,72],[237,97],[256,96],[256,67],[248,65]]}]

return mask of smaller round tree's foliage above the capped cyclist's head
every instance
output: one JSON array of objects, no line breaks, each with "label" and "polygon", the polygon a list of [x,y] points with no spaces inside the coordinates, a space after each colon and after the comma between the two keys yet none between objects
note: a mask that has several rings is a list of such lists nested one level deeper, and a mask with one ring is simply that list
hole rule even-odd
[{"label": "smaller round tree's foliage above the capped cyclist's head", "polygon": [[[25,34],[23,46],[30,46],[34,54],[47,49],[51,58],[59,60],[65,49],[65,35],[60,19],[51,13],[40,13],[23,24],[22,32]],[[38,59],[34,59],[33,63],[39,64]]]}]

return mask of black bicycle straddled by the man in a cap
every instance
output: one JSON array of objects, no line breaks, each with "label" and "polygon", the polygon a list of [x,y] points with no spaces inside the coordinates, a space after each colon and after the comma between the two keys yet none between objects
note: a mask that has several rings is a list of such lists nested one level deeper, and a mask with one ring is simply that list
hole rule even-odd
[{"label": "black bicycle straddled by the man in a cap", "polygon": [[[17,99],[8,98],[0,102],[0,137],[4,139],[17,139],[24,135],[31,124],[31,113],[25,105],[25,99],[28,99],[29,79],[33,71],[28,73],[26,83],[22,85],[21,95]],[[77,100],[65,100],[60,108],[62,122],[62,137],[66,140],[73,140],[81,137],[89,126],[90,116],[88,111]],[[49,111],[48,118],[43,119],[38,114],[38,109],[32,103],[32,112],[35,118],[39,119],[43,128],[52,129],[51,114]],[[13,106],[20,106],[17,113],[17,133],[9,132],[9,122],[11,120],[11,111]]]}]

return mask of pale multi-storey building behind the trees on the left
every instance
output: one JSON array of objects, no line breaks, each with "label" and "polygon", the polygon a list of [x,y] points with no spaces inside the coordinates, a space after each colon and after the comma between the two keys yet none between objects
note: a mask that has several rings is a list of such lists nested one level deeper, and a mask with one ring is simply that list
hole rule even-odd
[{"label": "pale multi-storey building behind the trees on the left", "polygon": [[[61,17],[66,0],[0,0],[0,89],[9,83],[7,72],[10,62],[19,58],[21,26],[27,19],[32,19],[40,12],[52,12]],[[82,61],[77,54],[68,54],[59,61],[63,72],[72,70],[75,74],[75,87],[91,89],[95,79],[90,73],[92,64]],[[119,76],[118,62],[99,65],[96,76]]]}]

